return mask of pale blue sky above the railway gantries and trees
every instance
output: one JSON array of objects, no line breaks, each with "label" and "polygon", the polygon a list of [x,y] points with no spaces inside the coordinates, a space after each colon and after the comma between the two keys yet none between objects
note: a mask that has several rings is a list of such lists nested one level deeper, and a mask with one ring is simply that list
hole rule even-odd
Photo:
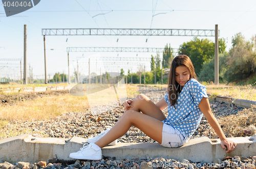
[{"label": "pale blue sky above the railway gantries and trees", "polygon": [[[100,14],[100,15],[98,15]],[[119,29],[200,29],[215,30],[218,24],[220,35],[231,48],[232,36],[241,32],[246,40],[256,34],[255,1],[82,1],[82,0],[41,0],[33,8],[6,17],[0,3],[0,59],[24,58],[24,25],[27,25],[27,63],[33,68],[34,78],[44,78],[44,40],[41,29],[69,28],[119,28]],[[47,75],[67,72],[67,47],[158,47],[170,44],[179,48],[192,36],[46,36]],[[215,37],[199,37],[215,41]],[[118,39],[118,42],[117,42]],[[160,58],[162,58],[162,53]],[[127,70],[138,71],[138,65],[145,65],[150,71],[150,62],[102,61],[100,57],[151,58],[149,52],[70,52],[70,71],[77,69],[88,74],[90,71],[120,72],[121,65]],[[78,58],[80,57],[80,58]],[[84,57],[81,59],[81,57]],[[97,59],[97,61],[96,61]],[[96,66],[97,62],[97,66]],[[114,66],[109,63],[114,64]],[[114,63],[115,62],[115,63]],[[124,63],[125,62],[125,63]],[[17,64],[3,68],[4,64]],[[109,65],[106,67],[106,65]],[[116,65],[116,66],[115,66]],[[118,67],[119,65],[119,67]],[[23,69],[23,64],[22,64]],[[0,61],[2,77],[20,79],[19,61]],[[23,74],[23,73],[22,73]]]}]

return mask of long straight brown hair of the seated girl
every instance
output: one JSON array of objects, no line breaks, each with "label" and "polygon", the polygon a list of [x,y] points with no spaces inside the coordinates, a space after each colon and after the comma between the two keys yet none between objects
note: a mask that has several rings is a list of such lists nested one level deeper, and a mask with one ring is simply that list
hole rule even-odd
[{"label": "long straight brown hair of the seated girl", "polygon": [[[190,72],[190,78],[195,78],[196,80],[197,79],[197,75],[195,73],[195,69],[194,69],[194,66],[190,60],[190,58],[188,58],[187,55],[177,55],[173,61],[172,61],[172,64],[170,64],[170,72],[169,72],[169,83],[168,83],[168,89],[167,89],[167,92],[168,92],[168,95],[169,95],[169,101],[170,101],[170,106],[174,106],[174,108],[176,109],[175,107],[175,103],[177,102],[178,100],[178,97],[181,93],[181,86],[179,85],[179,83],[175,80],[175,69],[178,67],[178,66],[185,66],[189,72]],[[173,95],[175,96],[173,98]],[[171,97],[172,96],[172,97]]]}]

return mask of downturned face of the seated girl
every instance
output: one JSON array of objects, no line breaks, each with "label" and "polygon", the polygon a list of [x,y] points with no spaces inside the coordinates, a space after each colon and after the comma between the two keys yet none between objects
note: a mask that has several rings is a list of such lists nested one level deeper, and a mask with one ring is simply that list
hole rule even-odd
[{"label": "downturned face of the seated girl", "polygon": [[185,66],[178,66],[175,69],[175,80],[180,84],[180,86],[183,87],[189,78],[190,72]]}]

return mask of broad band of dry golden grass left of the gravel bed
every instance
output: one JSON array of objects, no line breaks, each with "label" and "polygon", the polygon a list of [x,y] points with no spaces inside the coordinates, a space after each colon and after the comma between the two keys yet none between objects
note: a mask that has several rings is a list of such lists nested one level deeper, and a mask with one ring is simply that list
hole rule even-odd
[{"label": "broad band of dry golden grass left of the gravel bed", "polygon": [[50,96],[19,101],[12,106],[1,106],[0,119],[5,121],[47,120],[67,111],[84,111],[88,107],[86,97],[76,97],[70,94]]}]

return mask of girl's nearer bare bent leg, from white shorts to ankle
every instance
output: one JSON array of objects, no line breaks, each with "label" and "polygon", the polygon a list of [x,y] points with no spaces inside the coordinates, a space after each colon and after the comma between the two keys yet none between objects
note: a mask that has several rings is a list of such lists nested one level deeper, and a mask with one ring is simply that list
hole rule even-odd
[{"label": "girl's nearer bare bent leg, from white shorts to ankle", "polygon": [[131,126],[139,128],[158,143],[162,143],[163,122],[151,116],[141,114],[138,111],[127,110],[111,130],[97,140],[95,144],[103,148],[113,142],[113,140],[123,136]]}]

